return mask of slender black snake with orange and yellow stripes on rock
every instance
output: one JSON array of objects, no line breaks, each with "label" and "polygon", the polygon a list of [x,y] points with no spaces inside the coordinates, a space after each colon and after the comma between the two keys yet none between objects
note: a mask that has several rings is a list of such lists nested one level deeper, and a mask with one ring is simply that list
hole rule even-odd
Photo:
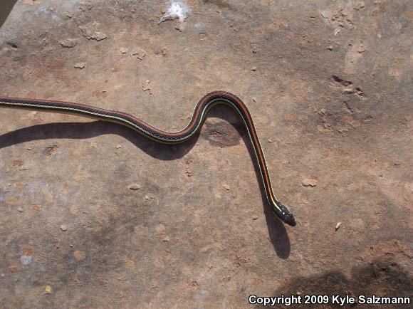
[{"label": "slender black snake with orange and yellow stripes on rock", "polygon": [[129,115],[125,112],[117,112],[115,110],[107,110],[103,108],[97,108],[91,105],[83,105],[78,103],[69,103],[56,100],[38,100],[33,98],[9,98],[0,97],[0,107],[4,108],[19,108],[25,110],[38,110],[48,112],[63,112],[67,114],[75,114],[83,117],[89,117],[98,120],[104,120],[108,122],[115,122],[120,125],[135,130],[136,132],[144,135],[145,137],[161,142],[164,144],[177,144],[189,140],[191,137],[201,130],[201,127],[206,118],[206,114],[210,108],[217,104],[226,104],[239,114],[244,127],[249,136],[249,141],[255,155],[256,163],[261,174],[261,181],[263,184],[263,190],[266,194],[266,199],[273,214],[278,219],[285,222],[290,226],[296,225],[296,219],[290,209],[279,201],[273,193],[270,174],[266,164],[266,159],[263,154],[261,144],[259,142],[258,133],[254,125],[251,113],[246,104],[233,93],[227,91],[213,91],[207,93],[204,97],[198,101],[194,108],[191,120],[184,129],[177,132],[166,132],[146,122]]}]

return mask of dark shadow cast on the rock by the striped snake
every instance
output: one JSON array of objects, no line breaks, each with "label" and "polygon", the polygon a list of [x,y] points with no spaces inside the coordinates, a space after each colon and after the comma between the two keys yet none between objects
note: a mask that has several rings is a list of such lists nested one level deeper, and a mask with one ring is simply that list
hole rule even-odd
[{"label": "dark shadow cast on the rock by the striped snake", "polygon": [[[261,190],[263,213],[266,217],[266,224],[271,243],[279,258],[288,258],[288,256],[290,256],[291,244],[286,228],[281,220],[276,218],[276,216],[272,213],[270,206],[268,205],[266,193],[264,191],[263,184],[261,184],[261,174],[259,172],[258,164],[256,163],[253,148],[251,142],[249,141],[248,135],[246,134],[246,130],[241,124],[241,120],[231,123],[230,120],[233,120],[234,117],[236,117],[236,119],[239,118],[234,110],[226,107],[225,105],[220,105],[219,108],[213,108],[210,110],[208,112],[208,117],[217,117],[221,120],[229,122],[244,141],[244,144],[249,151],[251,161],[253,162],[256,179]],[[30,127],[24,127],[22,129],[0,135],[0,149],[34,140],[84,140],[108,134],[119,135],[129,142],[132,142],[133,145],[139,147],[142,151],[147,153],[147,155],[164,161],[184,157],[184,155],[186,155],[189,150],[194,147],[201,135],[201,133],[198,132],[197,135],[195,135],[191,140],[182,144],[165,145],[150,140],[147,137],[128,129],[127,127],[117,125],[113,122],[105,122],[100,120],[92,122],[58,122],[32,125]]]}]

